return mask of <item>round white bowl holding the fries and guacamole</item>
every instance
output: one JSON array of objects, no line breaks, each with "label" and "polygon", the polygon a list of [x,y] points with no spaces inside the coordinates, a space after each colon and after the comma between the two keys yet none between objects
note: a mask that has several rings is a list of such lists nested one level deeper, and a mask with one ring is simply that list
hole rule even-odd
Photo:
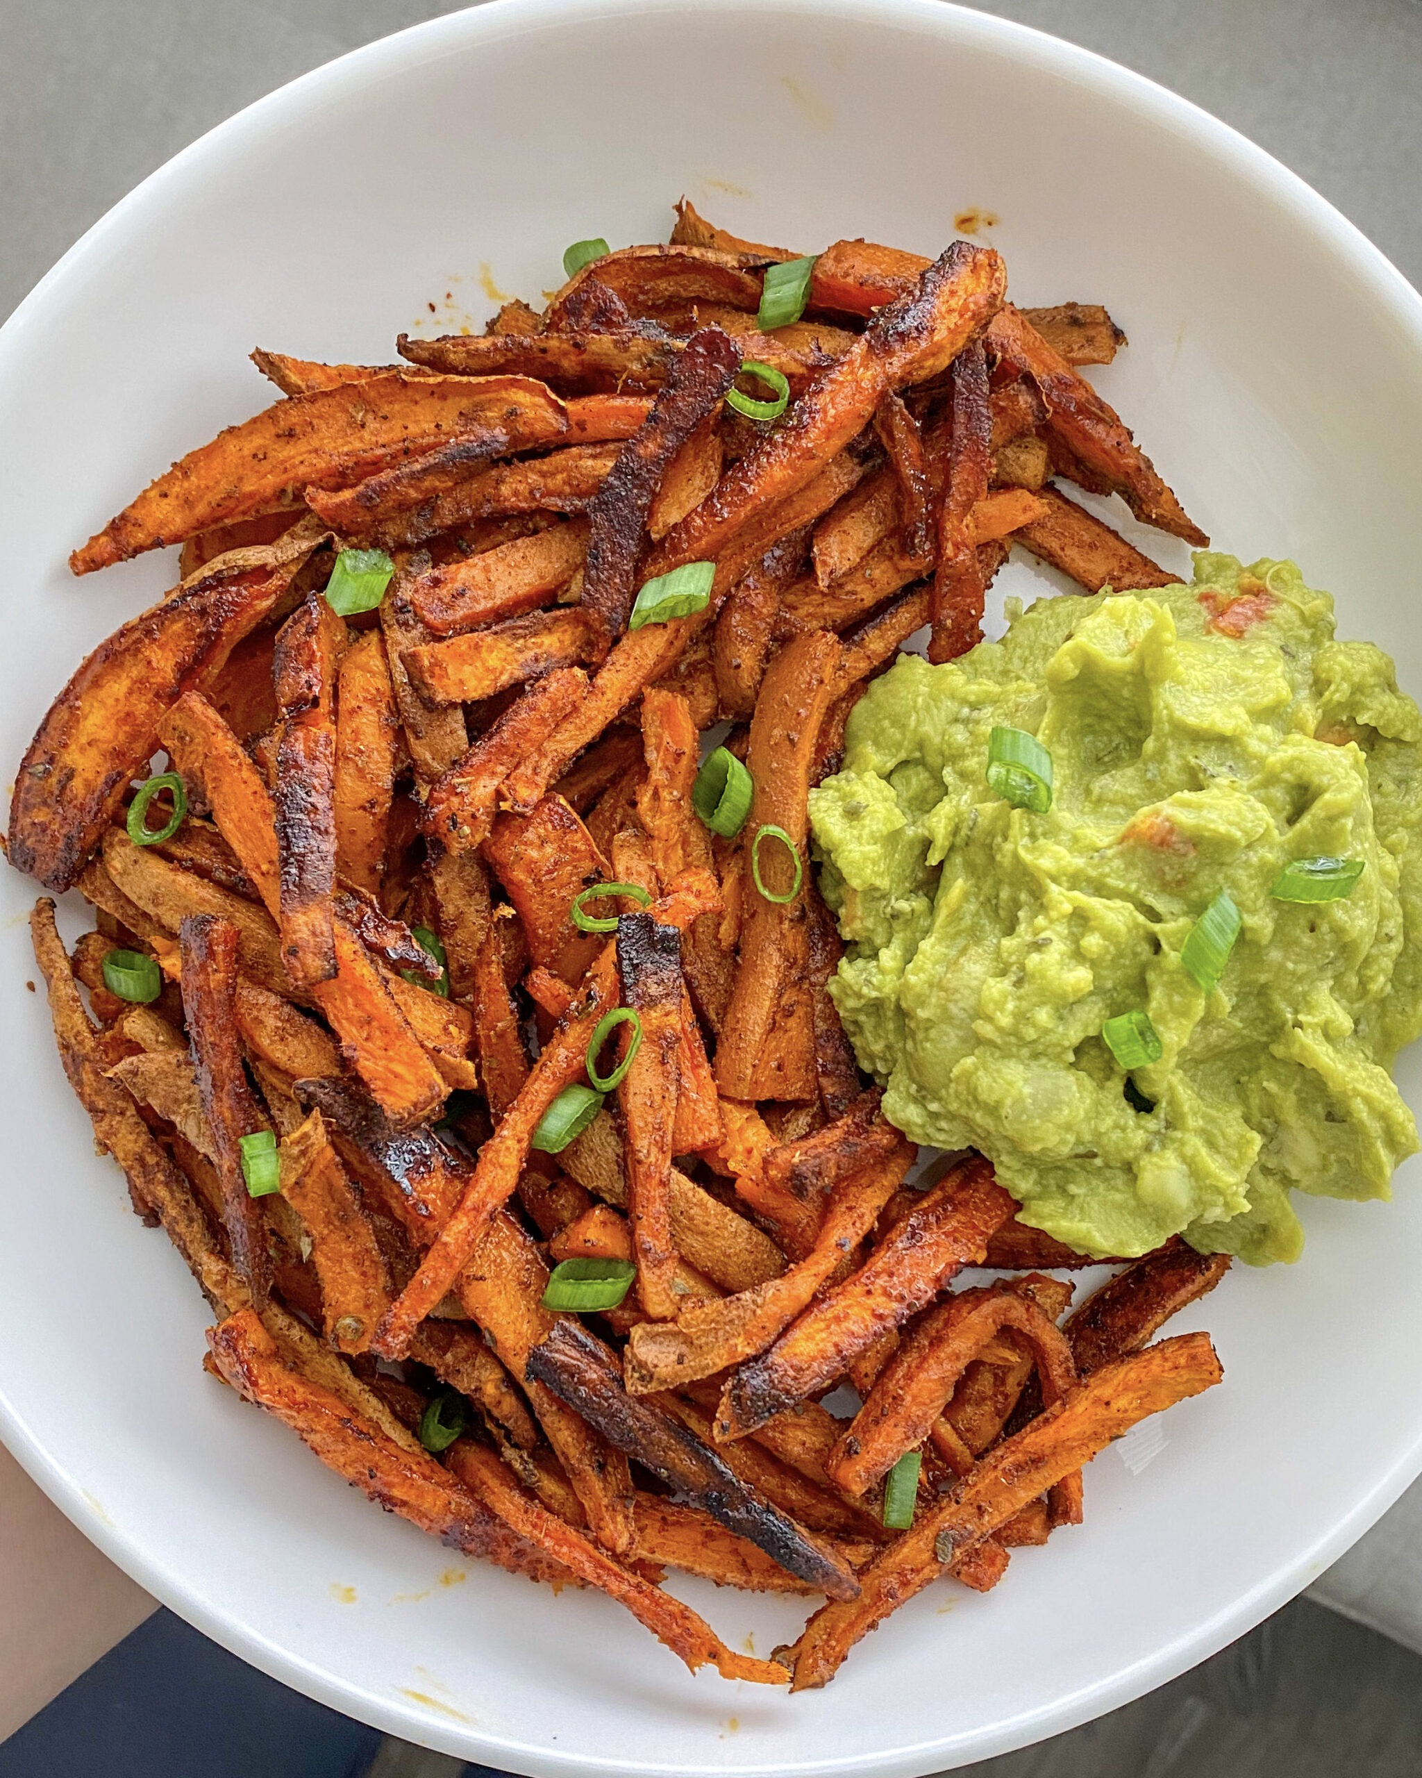
[{"label": "round white bowl holding the fries and guacamole", "polygon": [[[1136,75],[949,5],[499,0],[222,124],[0,334],[0,756],[20,759],[80,654],[176,578],[148,557],[73,581],[64,557],[267,404],[254,345],[380,363],[400,329],[480,324],[496,286],[537,299],[571,240],[663,238],[681,192],[811,249],[937,252],[958,212],[994,212],[1019,300],[1100,300],[1125,325],[1130,350],[1097,380],[1218,546],[1294,555],[1342,631],[1422,690],[1422,302],[1264,153]],[[539,1774],[956,1766],[1209,1655],[1422,1467],[1413,1163],[1395,1205],[1305,1205],[1299,1266],[1235,1271],[1182,1317],[1214,1332],[1225,1387],[1161,1422],[1148,1467],[1150,1447],[1134,1469],[1102,1454],[1086,1524],[1019,1552],[995,1593],[923,1593],[821,1693],[691,1678],[601,1595],[555,1597],[382,1517],[203,1374],[203,1303],[94,1157],[23,990],[32,891],[0,884],[0,1430],[158,1598],[382,1728]],[[1415,1056],[1402,1083],[1422,1102]],[[684,1591],[761,1654],[802,1616]]]}]

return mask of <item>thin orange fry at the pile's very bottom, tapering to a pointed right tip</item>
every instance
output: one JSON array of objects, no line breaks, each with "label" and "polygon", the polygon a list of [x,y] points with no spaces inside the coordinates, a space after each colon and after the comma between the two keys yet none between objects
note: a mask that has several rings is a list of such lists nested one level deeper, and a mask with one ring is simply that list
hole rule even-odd
[{"label": "thin orange fry at the pile's very bottom, tapering to a pointed right tip", "polygon": [[777,1662],[732,1654],[690,1606],[622,1568],[588,1543],[578,1529],[539,1506],[519,1488],[492,1451],[460,1438],[450,1451],[450,1467],[515,1536],[544,1550],[549,1561],[560,1563],[579,1581],[601,1588],[610,1598],[626,1606],[638,1623],[679,1655],[693,1673],[709,1662],[722,1678],[745,1678],[763,1686],[786,1682],[786,1670]]}]

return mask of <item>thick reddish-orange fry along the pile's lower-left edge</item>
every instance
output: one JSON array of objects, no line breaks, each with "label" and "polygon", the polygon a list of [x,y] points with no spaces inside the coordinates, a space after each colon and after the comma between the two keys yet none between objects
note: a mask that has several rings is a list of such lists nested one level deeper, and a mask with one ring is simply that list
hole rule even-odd
[{"label": "thick reddish-orange fry along the pile's lower-left edge", "polygon": [[219,1374],[245,1399],[284,1421],[315,1454],[386,1511],[443,1543],[533,1581],[567,1582],[562,1563],[508,1531],[443,1463],[396,1444],[347,1401],[283,1364],[251,1309],[208,1330]]}]

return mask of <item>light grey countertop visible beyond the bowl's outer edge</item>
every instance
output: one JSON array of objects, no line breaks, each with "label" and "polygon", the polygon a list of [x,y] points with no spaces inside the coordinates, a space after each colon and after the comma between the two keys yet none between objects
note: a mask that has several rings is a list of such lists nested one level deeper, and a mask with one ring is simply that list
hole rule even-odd
[{"label": "light grey countertop visible beyond the bowl's outer edge", "polygon": [[[0,0],[0,315],[116,199],[439,0]],[[1271,149],[1422,283],[1422,0],[1003,0]],[[1184,245],[1189,251],[1189,245]],[[1422,1485],[1314,1590],[1422,1648]]]}]

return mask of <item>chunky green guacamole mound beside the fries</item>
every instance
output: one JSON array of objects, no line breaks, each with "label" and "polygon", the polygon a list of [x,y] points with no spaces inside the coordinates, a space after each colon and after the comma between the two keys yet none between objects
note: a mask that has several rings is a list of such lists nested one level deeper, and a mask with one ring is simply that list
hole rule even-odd
[{"label": "chunky green guacamole mound beside the fries", "polygon": [[[1388,1069],[1422,1031],[1422,713],[1292,562],[1008,615],[876,679],[811,793],[859,1060],[1074,1248],[1296,1259],[1292,1191],[1385,1198],[1417,1149]],[[1047,749],[1045,813],[988,788],[999,725]],[[1303,859],[1362,875],[1278,900]],[[1221,891],[1207,992],[1180,953]],[[1102,1026],[1134,1012],[1159,1060],[1127,1072]]]}]

